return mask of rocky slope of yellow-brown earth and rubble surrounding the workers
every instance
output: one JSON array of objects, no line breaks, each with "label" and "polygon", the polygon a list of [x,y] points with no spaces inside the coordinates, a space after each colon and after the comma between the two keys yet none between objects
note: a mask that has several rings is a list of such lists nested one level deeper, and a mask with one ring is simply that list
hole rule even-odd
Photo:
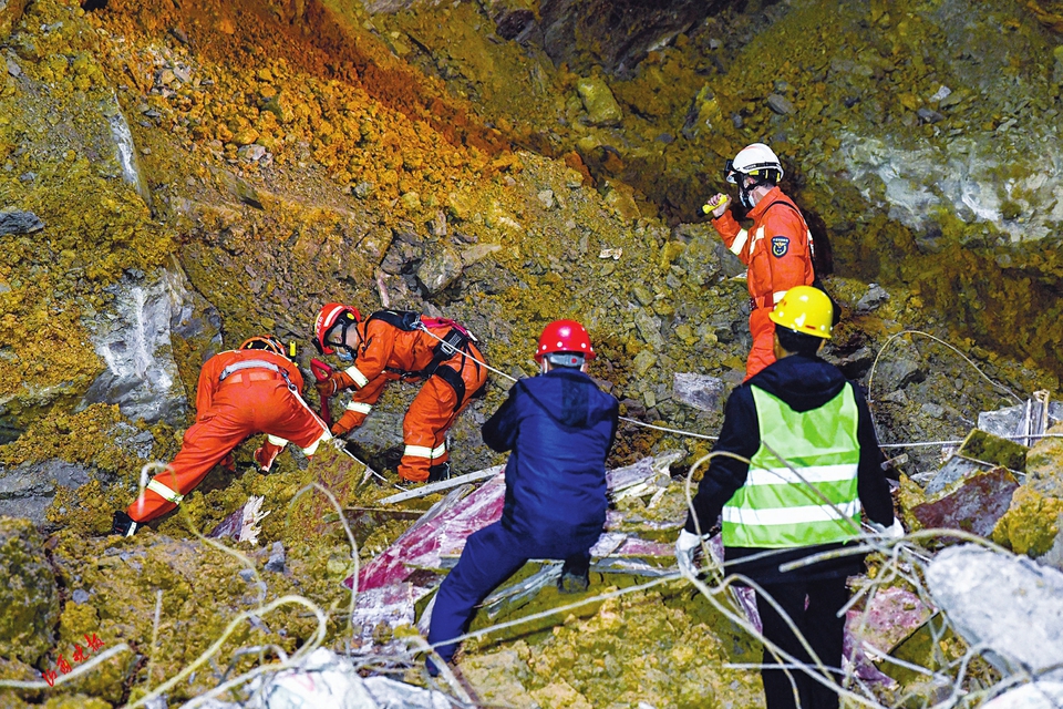
[{"label": "rocky slope of yellow-brown earth and rubble surrounding the workers", "polygon": [[[718,393],[743,374],[742,268],[698,209],[752,140],[781,153],[787,189],[833,246],[845,319],[828,357],[870,387],[885,442],[962,438],[979,411],[1013,403],[1001,387],[1056,390],[1057,8],[835,4],[0,3],[0,514],[49,535],[3,522],[4,544],[33,561],[18,576],[32,582],[27,617],[0,623],[0,676],[39,678],[84,634],[133,649],[3,700],[143,697],[262,587],[345,603],[343,531],[307,538],[299,504],[285,512],[313,470],[293,455],[268,476],[215,471],[187,516],[135,540],[99,536],[142,466],[176,452],[204,359],[272,331],[306,364],[326,301],[455,318],[513,376],[534,371],[543,325],[577,318],[626,415],[714,433],[722,398],[692,408],[674,374],[714,376]],[[937,340],[889,339],[906,328],[992,381]],[[496,377],[455,428],[461,470],[497,462],[478,423],[507,386]],[[413,391],[389,392],[355,436],[380,469]],[[708,445],[626,423],[612,462],[682,446],[689,463]],[[911,450],[907,472],[938,454]],[[240,546],[247,558],[189,532],[248,495],[275,512],[265,546]],[[681,515],[678,484],[669,500]],[[1050,525],[1053,504],[1020,496],[1011,528]],[[361,531],[358,554],[401,530]],[[1051,542],[1021,536],[1002,532],[1018,551]],[[259,586],[247,572],[274,542],[287,569]],[[497,696],[519,684],[508,696],[532,697],[522,706],[705,706],[668,679],[690,674],[720,706],[755,706],[755,674],[705,662],[741,659],[749,639],[687,593],[569,618],[534,657],[473,648],[471,676]],[[646,631],[618,643],[618,617]],[[229,662],[249,668],[241,647],[291,651],[316,629],[301,608],[251,626],[171,699],[216,686]],[[665,628],[688,626],[681,645],[696,651],[665,647]],[[347,630],[333,614],[328,641]]]}]

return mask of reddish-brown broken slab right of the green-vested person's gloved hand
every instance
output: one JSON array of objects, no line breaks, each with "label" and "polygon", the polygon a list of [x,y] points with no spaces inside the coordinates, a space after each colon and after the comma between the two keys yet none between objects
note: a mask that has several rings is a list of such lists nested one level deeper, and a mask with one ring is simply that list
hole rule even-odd
[{"label": "reddish-brown broken slab right of the green-vested person's gloved hand", "polygon": [[1018,489],[1011,471],[997,467],[967,479],[937,500],[914,505],[910,512],[923,528],[963,530],[989,538]]}]

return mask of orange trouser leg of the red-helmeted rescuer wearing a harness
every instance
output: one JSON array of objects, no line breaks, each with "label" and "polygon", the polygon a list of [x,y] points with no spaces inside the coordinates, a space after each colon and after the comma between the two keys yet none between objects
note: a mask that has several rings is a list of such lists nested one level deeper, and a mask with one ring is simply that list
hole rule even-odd
[{"label": "orange trouser leg of the red-helmeted rescuer wearing a harness", "polygon": [[[469,346],[473,357],[484,361],[483,354]],[[457,415],[468,405],[473,395],[487,381],[487,370],[469,357],[452,358],[442,367],[457,370],[465,382],[465,394],[457,400],[454,388],[438,376],[429,377],[402,421],[402,439],[405,443],[399,462],[399,476],[414,482],[429,479],[429,469],[451,459],[446,450],[446,432],[454,425]]]}]

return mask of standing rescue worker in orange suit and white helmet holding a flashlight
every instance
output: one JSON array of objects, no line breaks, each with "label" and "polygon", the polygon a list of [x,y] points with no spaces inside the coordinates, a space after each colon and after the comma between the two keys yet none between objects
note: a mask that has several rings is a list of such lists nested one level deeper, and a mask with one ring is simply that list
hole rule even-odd
[{"label": "standing rescue worker in orange suit and white helmet holding a flashlight", "polygon": [[813,273],[812,233],[793,199],[778,188],[783,166],[767,145],[753,143],[729,160],[724,177],[739,186],[739,198],[753,219],[742,228],[727,208],[730,197],[716,194],[704,206],[712,226],[731,253],[749,267],[750,333],[753,348],[745,363],[749,379],[775,361],[775,326],[768,315],[794,286],[811,286]]}]

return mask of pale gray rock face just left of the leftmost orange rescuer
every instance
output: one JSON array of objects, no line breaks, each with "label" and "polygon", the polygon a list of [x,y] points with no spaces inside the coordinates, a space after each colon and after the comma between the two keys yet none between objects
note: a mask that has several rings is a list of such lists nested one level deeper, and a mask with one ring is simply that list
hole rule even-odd
[{"label": "pale gray rock face just left of the leftmost orange rescuer", "polygon": [[81,408],[105,402],[131,419],[183,421],[188,402],[173,338],[220,346],[216,311],[186,282],[183,273],[162,270],[151,280],[126,276],[112,288],[114,309],[86,322],[107,369],[89,387]]}]

